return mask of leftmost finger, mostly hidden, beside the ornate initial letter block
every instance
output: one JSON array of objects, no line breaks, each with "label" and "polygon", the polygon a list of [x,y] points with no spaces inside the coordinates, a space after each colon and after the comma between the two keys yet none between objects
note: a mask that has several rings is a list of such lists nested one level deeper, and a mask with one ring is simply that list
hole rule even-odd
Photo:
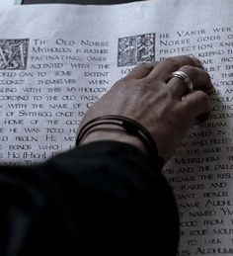
[{"label": "leftmost finger, mostly hidden, beside the ornate initial letter block", "polygon": [[158,64],[158,61],[141,63],[134,67],[130,73],[127,74],[125,78],[141,79],[147,76],[151,70]]}]

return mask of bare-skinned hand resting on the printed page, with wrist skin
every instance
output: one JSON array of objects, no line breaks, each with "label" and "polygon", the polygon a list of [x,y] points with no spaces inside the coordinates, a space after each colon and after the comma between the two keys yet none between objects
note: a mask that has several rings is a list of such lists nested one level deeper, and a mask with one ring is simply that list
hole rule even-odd
[{"label": "bare-skinned hand resting on the printed page, with wrist skin", "polygon": [[[194,91],[184,95],[186,87],[177,77],[168,81],[174,71],[184,71],[194,84]],[[88,121],[105,116],[128,117],[147,128],[153,136],[159,155],[169,160],[196,121],[208,119],[211,111],[206,94],[212,89],[210,77],[200,61],[188,56],[167,58],[160,62],[136,66],[125,78],[97,101],[87,112],[81,127]],[[144,150],[143,144],[116,127],[99,128],[82,143],[117,140]]]}]

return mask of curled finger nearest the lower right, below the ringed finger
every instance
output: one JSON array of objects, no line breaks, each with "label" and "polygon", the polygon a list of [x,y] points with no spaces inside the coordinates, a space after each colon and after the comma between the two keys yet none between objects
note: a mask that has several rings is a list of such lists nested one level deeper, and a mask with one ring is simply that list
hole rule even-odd
[{"label": "curled finger nearest the lower right, below the ringed finger", "polygon": [[181,102],[180,107],[198,123],[205,122],[209,118],[212,109],[209,97],[202,91],[195,91],[187,95]]}]

